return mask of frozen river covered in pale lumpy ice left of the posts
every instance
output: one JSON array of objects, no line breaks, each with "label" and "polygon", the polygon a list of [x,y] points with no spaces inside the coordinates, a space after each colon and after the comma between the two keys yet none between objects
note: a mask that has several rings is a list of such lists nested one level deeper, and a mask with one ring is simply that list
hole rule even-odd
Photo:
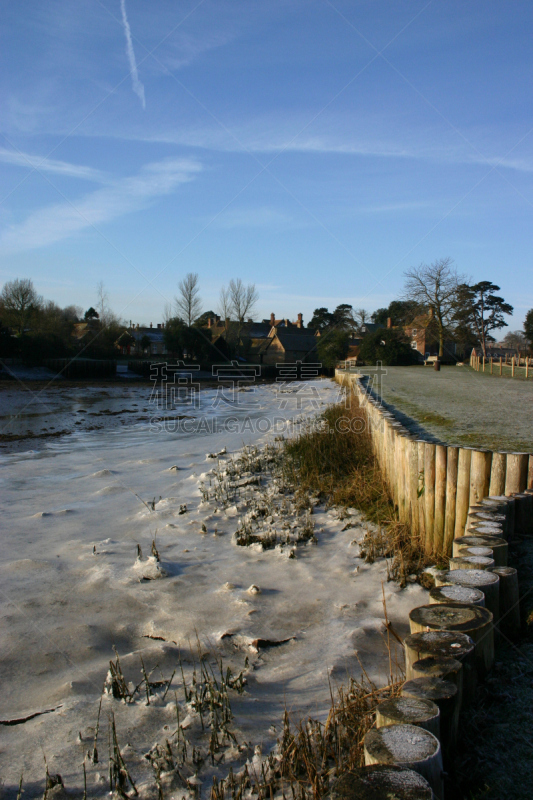
[{"label": "frozen river covered in pale lumpy ice left of the posts", "polygon": [[[228,404],[219,390],[204,389],[200,407],[177,402],[155,415],[146,387],[105,390],[106,396],[63,388],[54,397],[48,390],[68,435],[0,455],[0,774],[7,797],[16,796],[21,773],[26,797],[42,795],[45,759],[50,774],[61,774],[73,791],[83,789],[85,760],[89,796],[104,796],[111,712],[140,795],[156,797],[145,756],[167,738],[174,746],[176,710],[182,735],[200,754],[188,772],[191,786],[201,785],[205,795],[213,774],[227,774],[230,765],[238,771],[260,750],[268,754],[285,708],[295,720],[325,715],[328,677],[335,686],[359,675],[357,657],[386,682],[386,566],[358,557],[359,516],[347,523],[317,505],[317,544],[298,545],[288,557],[287,548],[236,546],[233,534],[249,500],[223,507],[202,497],[217,463],[245,444],[291,435],[295,420],[339,399],[329,380],[278,390],[259,386]],[[27,402],[23,392],[10,393],[2,399],[4,420]],[[75,426],[79,408],[128,422]],[[159,564],[149,558],[153,540]],[[395,628],[406,633],[409,609],[427,593],[385,583],[385,594]],[[158,665],[151,680],[160,685],[127,703],[104,695],[93,763],[86,756],[113,646],[130,688],[142,681],[139,655],[147,672]],[[221,656],[224,668],[244,670],[246,678],[244,693],[230,691],[236,743],[221,747],[215,762],[182,688],[180,654],[192,685],[197,649]],[[187,794],[169,779],[165,797]]]}]

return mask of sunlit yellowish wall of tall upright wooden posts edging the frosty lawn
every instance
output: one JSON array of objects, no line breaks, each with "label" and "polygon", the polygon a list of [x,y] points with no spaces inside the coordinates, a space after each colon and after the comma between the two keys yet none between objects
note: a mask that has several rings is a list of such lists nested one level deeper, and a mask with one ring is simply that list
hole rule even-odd
[{"label": "sunlit yellowish wall of tall upright wooden posts edging the frosty lawn", "polygon": [[451,556],[470,506],[533,488],[533,454],[493,452],[420,439],[354,373],[336,371],[366,411],[374,451],[401,522],[428,554]]}]

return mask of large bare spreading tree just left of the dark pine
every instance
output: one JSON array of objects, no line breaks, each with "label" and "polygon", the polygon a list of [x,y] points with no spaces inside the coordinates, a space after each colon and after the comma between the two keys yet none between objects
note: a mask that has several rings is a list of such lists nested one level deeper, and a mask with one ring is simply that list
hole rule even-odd
[{"label": "large bare spreading tree just left of the dark pine", "polygon": [[457,289],[464,277],[457,274],[451,258],[441,258],[433,264],[421,264],[405,273],[404,299],[428,309],[435,319],[439,339],[439,356],[444,355],[444,337],[457,303]]}]

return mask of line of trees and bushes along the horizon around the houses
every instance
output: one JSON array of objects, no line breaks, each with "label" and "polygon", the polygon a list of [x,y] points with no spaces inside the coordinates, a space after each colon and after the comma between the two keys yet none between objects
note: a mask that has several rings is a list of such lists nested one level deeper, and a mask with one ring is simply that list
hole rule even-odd
[{"label": "line of trees and bushes along the horizon around the houses", "polygon": [[[486,355],[494,333],[507,327],[505,317],[513,307],[491,281],[473,283],[460,275],[450,258],[422,264],[405,273],[400,298],[386,308],[369,312],[341,303],[332,312],[325,307],[315,309],[308,329],[320,332],[318,351],[324,364],[333,364],[346,356],[350,339],[363,336],[361,356],[388,363],[410,363],[415,358],[403,328],[421,315],[431,315],[431,329],[438,343],[438,352],[445,355],[446,343],[452,341],[460,352],[480,347]],[[242,334],[248,319],[253,318],[258,302],[253,283],[232,279],[223,286],[217,305],[220,324],[225,330],[226,355],[242,349]],[[164,311],[164,341],[168,352],[178,357],[209,360],[213,355],[207,320],[215,317],[204,311],[200,296],[199,276],[188,273],[178,283],[172,304]],[[391,328],[387,328],[390,319]],[[116,355],[116,345],[134,344],[124,322],[111,311],[102,283],[98,284],[95,306],[83,312],[78,306],[59,307],[45,301],[29,279],[8,281],[0,293],[0,354],[15,355],[39,361],[46,357],[68,356],[80,349],[73,341],[76,323],[92,322],[94,335],[83,343],[83,355],[109,358]],[[379,331],[373,325],[382,326]],[[523,331],[510,331],[503,343],[519,351],[533,346],[533,309],[526,316]],[[149,337],[141,338],[141,348],[148,349]],[[363,353],[364,351],[364,353]]]}]

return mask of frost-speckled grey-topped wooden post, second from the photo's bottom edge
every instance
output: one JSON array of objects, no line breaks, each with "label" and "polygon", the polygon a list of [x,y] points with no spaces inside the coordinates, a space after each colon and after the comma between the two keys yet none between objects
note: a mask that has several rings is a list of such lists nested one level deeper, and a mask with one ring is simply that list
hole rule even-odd
[{"label": "frost-speckled grey-topped wooden post, second from the photo's bottom edge", "polygon": [[398,764],[418,772],[442,800],[442,752],[436,736],[416,725],[371,728],[363,740],[365,764]]}]

